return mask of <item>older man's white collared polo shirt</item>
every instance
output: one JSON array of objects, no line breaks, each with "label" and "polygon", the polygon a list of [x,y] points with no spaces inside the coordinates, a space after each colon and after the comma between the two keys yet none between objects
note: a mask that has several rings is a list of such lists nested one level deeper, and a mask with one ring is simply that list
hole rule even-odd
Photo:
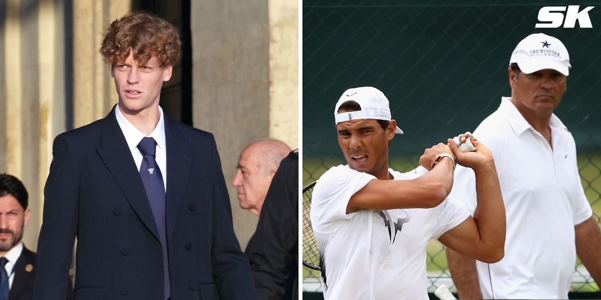
[{"label": "older man's white collared polo shirt", "polygon": [[[572,134],[555,115],[549,125],[553,148],[503,97],[474,131],[495,157],[507,214],[505,257],[476,262],[484,298],[567,299],[576,262],[574,226],[592,211]],[[474,214],[471,169],[457,166],[448,199]]]}]

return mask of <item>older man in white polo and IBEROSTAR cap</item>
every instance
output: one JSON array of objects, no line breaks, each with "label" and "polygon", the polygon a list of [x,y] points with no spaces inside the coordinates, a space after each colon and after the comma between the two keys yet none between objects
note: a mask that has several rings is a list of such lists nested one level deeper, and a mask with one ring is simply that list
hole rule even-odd
[{"label": "older man in white polo and IBEROSTAR cap", "polygon": [[[582,190],[572,134],[553,113],[570,67],[557,38],[524,38],[510,58],[511,97],[474,131],[495,157],[507,240],[498,263],[447,251],[460,298],[567,299],[576,254],[601,283],[599,227]],[[449,199],[474,213],[471,169],[457,166]]]}]

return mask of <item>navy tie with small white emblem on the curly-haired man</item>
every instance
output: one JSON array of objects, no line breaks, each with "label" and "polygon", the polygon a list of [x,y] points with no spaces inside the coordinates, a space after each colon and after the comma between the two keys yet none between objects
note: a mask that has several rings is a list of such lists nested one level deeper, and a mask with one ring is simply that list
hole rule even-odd
[{"label": "navy tie with small white emblem on the curly-haired man", "polygon": [[171,295],[169,280],[169,260],[167,256],[167,239],[165,233],[165,185],[159,165],[156,163],[156,141],[152,137],[144,137],[138,144],[142,154],[140,177],[144,183],[146,196],[154,215],[156,227],[159,230],[160,244],[163,247],[163,272],[165,274],[165,299]]}]

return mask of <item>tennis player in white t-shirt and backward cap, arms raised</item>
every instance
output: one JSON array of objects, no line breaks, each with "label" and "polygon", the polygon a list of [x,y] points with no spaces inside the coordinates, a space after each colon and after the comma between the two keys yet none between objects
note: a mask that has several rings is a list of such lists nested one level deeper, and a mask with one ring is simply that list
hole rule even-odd
[{"label": "tennis player in white t-shirt and backward cap, arms raised", "polygon": [[[462,153],[448,139],[426,149],[419,163],[430,172],[420,177],[388,168],[389,143],[403,131],[378,89],[347,90],[334,116],[347,164],[324,173],[311,203],[326,300],[428,299],[430,238],[484,262],[504,256],[505,209],[486,146],[474,140],[476,151]],[[454,160],[475,171],[473,218],[445,200]]]}]

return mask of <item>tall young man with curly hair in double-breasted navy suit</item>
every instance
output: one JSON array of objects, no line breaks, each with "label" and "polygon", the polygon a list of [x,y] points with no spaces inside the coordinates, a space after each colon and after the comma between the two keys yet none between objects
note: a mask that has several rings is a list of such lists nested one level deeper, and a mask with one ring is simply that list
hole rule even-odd
[{"label": "tall young man with curly hair in double-breasted navy suit", "polygon": [[119,101],[54,141],[34,299],[64,298],[75,237],[76,300],[255,299],[215,139],[159,106],[180,58],[177,29],[130,14],[100,52]]}]

